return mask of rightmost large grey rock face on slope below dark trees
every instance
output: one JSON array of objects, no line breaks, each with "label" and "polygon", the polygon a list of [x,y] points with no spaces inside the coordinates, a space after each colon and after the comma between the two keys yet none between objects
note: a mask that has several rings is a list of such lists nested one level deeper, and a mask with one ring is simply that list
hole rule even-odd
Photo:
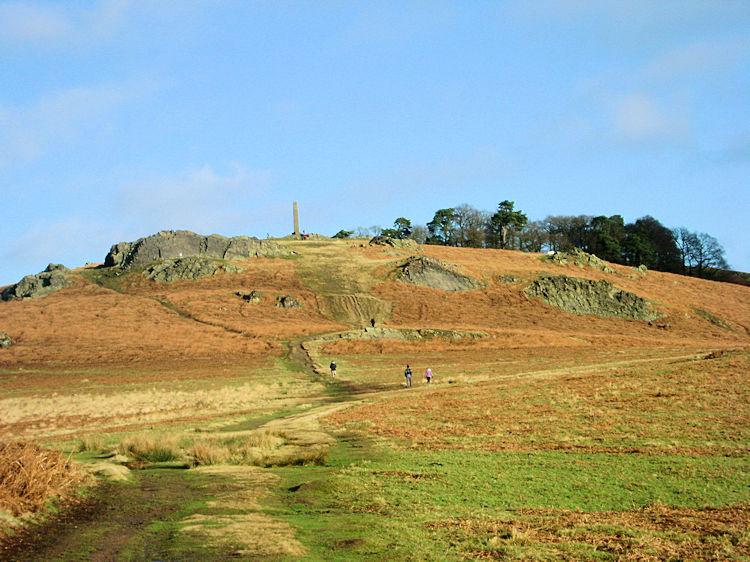
[{"label": "rightmost large grey rock face on slope below dark trees", "polygon": [[631,320],[654,320],[661,316],[633,293],[622,291],[607,281],[592,281],[560,275],[545,276],[526,288],[526,295],[573,314],[614,316]]}]

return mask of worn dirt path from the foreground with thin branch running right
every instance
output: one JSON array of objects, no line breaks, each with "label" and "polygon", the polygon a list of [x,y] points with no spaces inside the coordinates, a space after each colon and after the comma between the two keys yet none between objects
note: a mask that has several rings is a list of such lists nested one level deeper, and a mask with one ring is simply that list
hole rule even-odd
[{"label": "worn dirt path from the foreground with thin branch running right", "polygon": [[[316,357],[303,340],[288,343],[287,357],[311,376],[320,377]],[[554,378],[630,367],[644,363],[694,360],[702,354],[624,359],[580,367],[525,371],[500,378]],[[458,385],[498,377],[457,381]],[[320,419],[369,400],[404,392],[398,383],[372,388],[345,379],[326,381],[327,396],[305,412],[267,422],[263,429],[283,433],[289,446],[329,447],[335,439]],[[431,393],[449,388],[442,381],[415,387]],[[325,400],[321,405],[320,400]],[[239,432],[243,433],[243,432]],[[227,434],[229,435],[229,434]],[[286,523],[264,513],[261,503],[278,478],[257,467],[216,466],[191,470],[150,469],[133,473],[126,484],[102,482],[83,502],[47,522],[27,528],[5,545],[9,560],[229,560],[304,556],[304,547]]]}]

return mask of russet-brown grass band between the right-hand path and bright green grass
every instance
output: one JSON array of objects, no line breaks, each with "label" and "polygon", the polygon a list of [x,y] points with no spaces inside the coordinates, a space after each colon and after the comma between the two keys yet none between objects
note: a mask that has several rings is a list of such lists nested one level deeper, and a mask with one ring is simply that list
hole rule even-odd
[{"label": "russet-brown grass band between the right-hand path and bright green grass", "polygon": [[515,377],[499,367],[496,377],[470,387],[438,383],[426,394],[400,393],[327,419],[336,427],[369,421],[368,432],[424,449],[750,451],[750,352],[569,369]]}]

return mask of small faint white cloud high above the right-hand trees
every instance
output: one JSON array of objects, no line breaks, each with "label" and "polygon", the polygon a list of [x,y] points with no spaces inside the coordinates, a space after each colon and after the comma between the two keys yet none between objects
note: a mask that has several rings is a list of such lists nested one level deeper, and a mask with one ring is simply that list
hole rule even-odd
[{"label": "small faint white cloud high above the right-hand trees", "polygon": [[690,127],[685,115],[675,110],[666,113],[642,93],[615,100],[613,112],[615,133],[626,141],[683,140],[689,136]]}]

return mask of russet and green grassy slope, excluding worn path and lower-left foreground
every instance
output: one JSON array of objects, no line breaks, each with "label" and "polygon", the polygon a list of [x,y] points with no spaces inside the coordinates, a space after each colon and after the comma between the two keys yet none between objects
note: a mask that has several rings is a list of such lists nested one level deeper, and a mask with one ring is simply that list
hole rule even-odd
[{"label": "russet and green grassy slope, excluding worn path and lower-left foreground", "polygon": [[[222,419],[255,427],[273,411],[310,407],[325,391],[279,361],[280,341],[344,328],[320,312],[319,295],[370,292],[393,305],[387,326],[494,337],[322,348],[324,362],[339,364],[332,398],[355,387],[386,394],[328,418],[340,445],[325,466],[273,469],[281,480],[267,509],[298,530],[308,558],[750,555],[748,356],[689,359],[747,349],[746,287],[422,247],[487,284],[446,294],[390,279],[404,252],[285,243],[296,258],[253,260],[238,275],[169,285],[131,275],[108,279],[109,288],[81,277],[44,299],[0,303],[0,326],[17,342],[0,353],[0,401],[50,405],[4,426],[6,435]],[[522,288],[543,272],[635,292],[666,314],[665,327],[529,301]],[[500,282],[508,274],[519,281]],[[260,304],[235,295],[253,289],[264,293]],[[303,307],[277,308],[280,295]],[[433,387],[402,391],[407,362],[417,381],[431,366]],[[257,394],[237,402],[245,385]],[[52,393],[101,400],[112,419],[60,417]],[[177,412],[174,401],[191,395]],[[139,410],[139,399],[163,411]]]}]

